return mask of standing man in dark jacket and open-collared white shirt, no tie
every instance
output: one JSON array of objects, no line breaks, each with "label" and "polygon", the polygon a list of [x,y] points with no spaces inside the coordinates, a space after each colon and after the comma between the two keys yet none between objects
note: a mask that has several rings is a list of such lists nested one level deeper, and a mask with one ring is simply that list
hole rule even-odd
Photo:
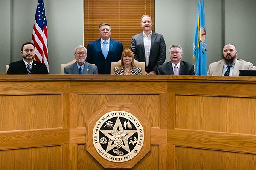
[{"label": "standing man in dark jacket and open-collared white shirt, no tie", "polygon": [[166,59],[166,45],[163,35],[152,31],[152,19],[149,15],[141,17],[143,32],[131,39],[131,50],[137,61],[146,63],[147,75],[157,74],[157,68]]}]

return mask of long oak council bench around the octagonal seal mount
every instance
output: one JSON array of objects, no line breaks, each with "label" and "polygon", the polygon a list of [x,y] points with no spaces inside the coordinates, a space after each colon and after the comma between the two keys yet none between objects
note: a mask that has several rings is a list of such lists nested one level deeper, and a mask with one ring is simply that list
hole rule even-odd
[{"label": "long oak council bench around the octagonal seal mount", "polygon": [[150,121],[151,151],[133,170],[256,169],[255,77],[0,75],[0,82],[1,170],[103,169],[86,151],[86,122],[120,103]]}]

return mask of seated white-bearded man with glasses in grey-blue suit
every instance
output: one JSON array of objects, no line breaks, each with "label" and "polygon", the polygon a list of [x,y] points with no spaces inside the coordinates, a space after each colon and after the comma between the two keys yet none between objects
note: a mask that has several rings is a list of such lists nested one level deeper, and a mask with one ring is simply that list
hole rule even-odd
[{"label": "seated white-bearded man with glasses in grey-blue suit", "polygon": [[98,74],[98,68],[95,65],[85,62],[87,49],[79,45],[75,48],[76,62],[64,68],[64,74]]}]

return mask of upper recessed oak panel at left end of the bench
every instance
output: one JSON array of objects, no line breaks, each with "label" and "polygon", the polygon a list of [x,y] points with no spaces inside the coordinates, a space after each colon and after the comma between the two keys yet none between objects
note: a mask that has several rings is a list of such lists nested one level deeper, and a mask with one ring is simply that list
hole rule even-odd
[{"label": "upper recessed oak panel at left end of the bench", "polygon": [[0,131],[61,127],[61,95],[0,96]]}]

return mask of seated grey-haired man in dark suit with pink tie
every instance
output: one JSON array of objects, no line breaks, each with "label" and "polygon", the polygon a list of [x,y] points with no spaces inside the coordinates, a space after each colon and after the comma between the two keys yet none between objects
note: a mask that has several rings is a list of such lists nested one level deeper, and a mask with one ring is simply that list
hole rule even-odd
[{"label": "seated grey-haired man in dark suit with pink tie", "polygon": [[171,61],[158,67],[158,74],[195,75],[194,65],[181,61],[182,48],[180,45],[169,47]]}]

